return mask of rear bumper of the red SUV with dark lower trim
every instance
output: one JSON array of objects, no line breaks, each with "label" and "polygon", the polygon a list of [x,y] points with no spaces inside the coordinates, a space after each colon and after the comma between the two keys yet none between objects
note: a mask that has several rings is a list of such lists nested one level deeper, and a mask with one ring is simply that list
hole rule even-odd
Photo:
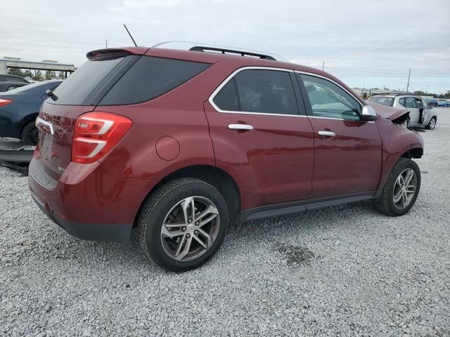
[{"label": "rear bumper of the red SUV with dark lower trim", "polygon": [[134,219],[155,180],[127,180],[110,175],[98,162],[70,163],[59,178],[35,157],[28,185],[39,208],[69,234],[79,239],[126,242]]}]

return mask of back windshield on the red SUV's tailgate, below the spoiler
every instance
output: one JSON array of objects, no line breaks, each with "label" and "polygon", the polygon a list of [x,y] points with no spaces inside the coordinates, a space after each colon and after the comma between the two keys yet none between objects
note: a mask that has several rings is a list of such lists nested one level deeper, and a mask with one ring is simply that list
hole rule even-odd
[{"label": "back windshield on the red SUV's tailgate, below the spoiler", "polygon": [[96,88],[106,75],[109,74],[124,58],[113,60],[89,60],[65,79],[55,89],[58,100],[46,100],[47,103],[58,105],[82,105],[88,95]]}]

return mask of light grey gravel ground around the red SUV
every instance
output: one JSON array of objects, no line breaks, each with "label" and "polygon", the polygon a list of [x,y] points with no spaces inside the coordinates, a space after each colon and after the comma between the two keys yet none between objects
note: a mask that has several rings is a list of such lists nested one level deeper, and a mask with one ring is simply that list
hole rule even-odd
[{"label": "light grey gravel ground around the red SUV", "polygon": [[0,167],[0,335],[450,336],[450,110],[439,110],[406,216],[366,202],[236,225],[184,274],[135,243],[70,237],[27,178]]}]

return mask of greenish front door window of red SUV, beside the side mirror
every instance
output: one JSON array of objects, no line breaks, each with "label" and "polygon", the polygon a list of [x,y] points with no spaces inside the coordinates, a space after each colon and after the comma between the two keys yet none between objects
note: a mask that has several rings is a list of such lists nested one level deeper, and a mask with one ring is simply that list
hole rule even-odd
[{"label": "greenish front door window of red SUV, beside the side mirror", "polygon": [[307,89],[314,116],[359,120],[361,105],[340,86],[320,77],[297,74],[297,78]]}]

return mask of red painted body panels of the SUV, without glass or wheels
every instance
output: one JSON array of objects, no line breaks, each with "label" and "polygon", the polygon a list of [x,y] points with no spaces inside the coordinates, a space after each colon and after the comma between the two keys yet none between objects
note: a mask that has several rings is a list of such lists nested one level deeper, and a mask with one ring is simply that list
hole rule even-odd
[{"label": "red painted body panels of the SUV, without glass or wheels", "polygon": [[[378,117],[375,123],[308,117],[226,114],[207,101],[239,67],[280,67],[326,72],[290,63],[212,53],[127,48],[130,53],[210,62],[212,66],[148,102],[110,107],[50,105],[40,116],[54,135],[40,131],[30,166],[30,188],[48,209],[78,223],[132,224],[156,184],[187,166],[218,166],[240,191],[241,209],[266,204],[376,191],[401,154],[423,147],[421,137]],[[360,100],[364,103],[364,100]],[[101,159],[72,162],[72,135],[79,115],[90,111],[125,116],[133,126]],[[251,131],[228,124],[250,124]],[[329,130],[326,139],[317,131]],[[58,157],[51,154],[58,153]],[[47,181],[49,190],[37,182]]]}]

